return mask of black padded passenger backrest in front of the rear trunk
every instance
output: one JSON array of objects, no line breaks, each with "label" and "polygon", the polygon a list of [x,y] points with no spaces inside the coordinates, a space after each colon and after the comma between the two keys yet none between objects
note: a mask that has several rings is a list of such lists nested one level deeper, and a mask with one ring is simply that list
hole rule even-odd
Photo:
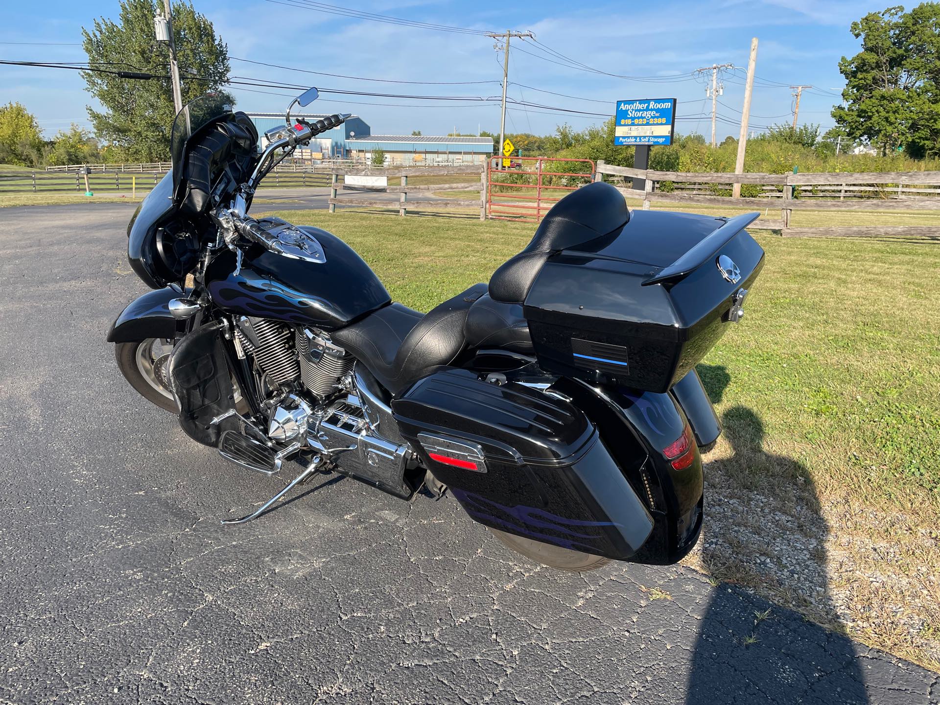
[{"label": "black padded passenger backrest in front of the rear trunk", "polygon": [[629,220],[626,201],[609,183],[595,181],[572,191],[545,214],[525,249],[493,273],[490,297],[522,304],[551,255],[598,238],[616,238]]}]

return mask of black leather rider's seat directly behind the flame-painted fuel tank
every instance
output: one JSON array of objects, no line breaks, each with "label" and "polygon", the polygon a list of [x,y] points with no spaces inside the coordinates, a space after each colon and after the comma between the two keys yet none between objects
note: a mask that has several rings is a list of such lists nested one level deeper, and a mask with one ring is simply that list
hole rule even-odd
[{"label": "black leather rider's seat directly behind the flame-painted fuel tank", "polygon": [[462,352],[467,313],[485,293],[486,284],[476,284],[424,316],[405,305],[387,305],[330,335],[399,394]]}]

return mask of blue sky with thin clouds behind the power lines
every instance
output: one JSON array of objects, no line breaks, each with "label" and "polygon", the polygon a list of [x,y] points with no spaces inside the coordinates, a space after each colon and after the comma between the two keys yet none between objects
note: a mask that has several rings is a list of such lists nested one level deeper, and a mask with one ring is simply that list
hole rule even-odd
[{"label": "blue sky with thin clouds behind the power lines", "polygon": [[[425,23],[531,30],[541,46],[590,67],[641,78],[626,80],[550,63],[540,46],[513,40],[509,80],[530,87],[510,84],[510,98],[603,114],[612,114],[619,100],[677,98],[679,115],[689,118],[677,122],[677,129],[703,134],[711,131],[710,119],[697,116],[711,110],[711,100],[705,98],[705,78],[690,76],[689,72],[713,63],[742,67],[725,75],[724,95],[719,98],[722,104],[718,106],[719,116],[732,122],[740,120],[744,69],[752,37],[760,39],[752,125],[789,121],[792,98],[787,86],[807,84],[815,87],[803,94],[800,122],[831,126],[829,110],[838,101],[838,92],[829,89],[843,85],[838,59],[858,51],[858,40],[850,34],[849,24],[890,4],[830,0],[336,2],[346,8]],[[194,0],[194,4],[211,19],[233,57],[368,78],[493,83],[395,85],[270,69],[237,60],[231,62],[232,75],[377,93],[500,95],[501,53],[494,51],[493,39],[487,37],[354,20],[268,0]],[[81,28],[98,16],[118,16],[118,0],[47,0],[40,4],[7,0],[4,5],[0,58],[6,59],[80,61],[85,58],[81,46],[70,43],[81,41]],[[90,97],[83,86],[77,71],[0,66],[0,103],[24,103],[39,118],[47,136],[67,128],[70,122],[87,126],[86,104]],[[242,90],[234,91],[234,95],[239,108],[248,111],[279,112],[289,102],[279,95]],[[402,104],[363,104],[367,102]],[[445,134],[455,128],[462,133],[476,133],[478,127],[499,129],[496,102],[455,104],[324,95],[315,106],[322,112],[356,113],[366,119],[372,133],[421,130],[425,134]],[[551,133],[557,124],[566,121],[580,129],[603,118],[517,107],[508,112],[507,131]],[[732,133],[736,136],[738,129],[720,121],[719,140]]]}]

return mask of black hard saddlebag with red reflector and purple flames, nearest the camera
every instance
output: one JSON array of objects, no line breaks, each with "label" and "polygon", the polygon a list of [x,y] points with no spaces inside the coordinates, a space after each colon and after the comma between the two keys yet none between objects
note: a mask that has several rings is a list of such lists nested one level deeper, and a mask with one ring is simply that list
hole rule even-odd
[{"label": "black hard saddlebag with red reflector and purple flames, nearest the camera", "polygon": [[392,401],[402,435],[477,522],[626,559],[653,522],[598,431],[568,401],[465,369]]}]

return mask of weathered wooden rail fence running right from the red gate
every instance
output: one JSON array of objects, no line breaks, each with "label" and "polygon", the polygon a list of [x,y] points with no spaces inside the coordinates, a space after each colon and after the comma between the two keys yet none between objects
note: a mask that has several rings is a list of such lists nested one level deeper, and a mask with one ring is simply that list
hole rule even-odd
[{"label": "weathered wooden rail fence running right from the red gate", "polygon": [[[940,171],[682,173],[614,166],[599,161],[594,179],[603,180],[605,174],[620,177],[624,185],[619,186],[619,191],[628,198],[642,200],[644,210],[649,209],[650,203],[653,202],[754,209],[764,211],[765,215],[752,227],[779,229],[781,234],[791,236],[940,237],[940,226],[791,226],[793,211],[940,211]],[[634,179],[645,180],[642,190],[633,188]],[[630,180],[629,188],[626,186],[627,180]],[[735,183],[758,186],[759,195],[739,198],[720,195],[726,190],[730,193]],[[688,193],[685,189],[676,189],[675,186],[679,184],[694,184],[697,192]],[[708,190],[703,190],[703,186]],[[706,195],[708,193],[712,195]],[[770,210],[779,210],[779,219],[769,218],[766,213]]]}]

